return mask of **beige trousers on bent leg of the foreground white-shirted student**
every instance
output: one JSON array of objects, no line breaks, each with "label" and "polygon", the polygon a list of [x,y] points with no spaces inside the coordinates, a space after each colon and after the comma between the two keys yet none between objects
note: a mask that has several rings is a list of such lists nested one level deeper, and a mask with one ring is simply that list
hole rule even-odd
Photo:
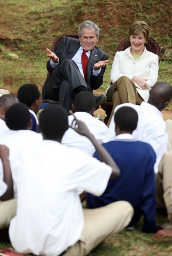
[{"label": "beige trousers on bent leg of the foreground white-shirted student", "polygon": [[96,209],[83,209],[84,229],[80,240],[64,256],[84,256],[110,235],[123,230],[131,221],[133,208],[118,201]]}]

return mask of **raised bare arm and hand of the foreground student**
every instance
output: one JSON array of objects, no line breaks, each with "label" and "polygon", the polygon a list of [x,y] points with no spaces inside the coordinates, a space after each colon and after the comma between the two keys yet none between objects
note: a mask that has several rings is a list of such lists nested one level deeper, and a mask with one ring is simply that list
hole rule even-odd
[{"label": "raised bare arm and hand of the foreground student", "polygon": [[94,145],[97,154],[100,158],[100,161],[104,162],[105,164],[109,165],[112,168],[112,174],[110,178],[115,179],[119,176],[120,171],[118,166],[116,165],[115,161],[109,155],[107,150],[95,139],[95,137],[90,133],[88,128],[86,127],[85,123],[78,120],[74,116],[74,121],[72,123],[72,128],[81,135],[86,136]]}]

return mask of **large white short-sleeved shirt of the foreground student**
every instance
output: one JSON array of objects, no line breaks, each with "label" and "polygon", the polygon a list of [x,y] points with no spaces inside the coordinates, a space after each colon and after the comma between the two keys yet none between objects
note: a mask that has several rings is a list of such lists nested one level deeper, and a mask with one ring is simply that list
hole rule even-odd
[{"label": "large white short-sleeved shirt of the foreground student", "polygon": [[111,167],[76,148],[43,140],[16,166],[17,214],[12,246],[21,253],[57,256],[80,238],[84,219],[78,187],[100,196]]}]

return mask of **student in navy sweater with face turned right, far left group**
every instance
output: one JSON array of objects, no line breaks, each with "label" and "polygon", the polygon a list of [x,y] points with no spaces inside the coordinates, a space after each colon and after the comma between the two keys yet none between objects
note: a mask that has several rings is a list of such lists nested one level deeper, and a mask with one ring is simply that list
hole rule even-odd
[{"label": "student in navy sweater with face turned right, far left group", "polygon": [[17,98],[29,108],[32,117],[31,130],[37,132],[38,119],[36,112],[39,111],[42,102],[38,86],[33,84],[22,85],[18,90]]}]

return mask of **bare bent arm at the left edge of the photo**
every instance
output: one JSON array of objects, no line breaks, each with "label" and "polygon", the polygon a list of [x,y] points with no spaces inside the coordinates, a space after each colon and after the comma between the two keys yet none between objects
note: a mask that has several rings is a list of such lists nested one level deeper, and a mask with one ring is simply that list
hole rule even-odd
[{"label": "bare bent arm at the left edge of the photo", "polygon": [[7,184],[7,191],[0,197],[1,201],[6,201],[14,197],[13,191],[13,178],[11,174],[10,162],[9,162],[9,149],[5,145],[0,145],[0,158],[2,160],[4,182]]}]

